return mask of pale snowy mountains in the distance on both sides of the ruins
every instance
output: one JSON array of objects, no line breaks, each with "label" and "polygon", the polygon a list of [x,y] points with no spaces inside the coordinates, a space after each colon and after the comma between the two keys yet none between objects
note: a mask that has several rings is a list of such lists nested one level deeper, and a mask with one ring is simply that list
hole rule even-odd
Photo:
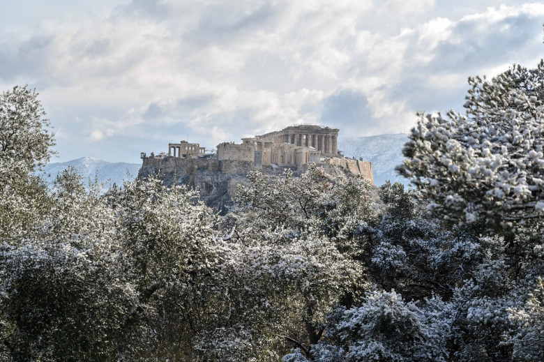
[{"label": "pale snowy mountains in the distance on both sides of the ruins", "polygon": [[[374,183],[381,186],[386,180],[400,182],[405,186],[409,181],[395,172],[395,167],[403,160],[402,147],[408,135],[377,135],[370,137],[339,137],[338,149],[349,158],[361,158],[370,161],[374,171]],[[110,163],[93,157],[77,158],[63,163],[48,163],[43,170],[44,179],[53,186],[56,175],[72,166],[82,174],[86,184],[94,181],[102,184],[106,191],[114,183],[122,185],[123,181],[135,179],[140,167],[139,163]]]}]

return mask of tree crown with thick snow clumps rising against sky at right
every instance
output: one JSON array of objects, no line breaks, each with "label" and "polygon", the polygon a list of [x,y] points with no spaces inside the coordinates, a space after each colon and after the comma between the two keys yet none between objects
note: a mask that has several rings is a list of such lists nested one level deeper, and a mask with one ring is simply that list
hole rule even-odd
[{"label": "tree crown with thick snow clumps rising against sky at right", "polygon": [[544,61],[470,78],[466,114],[420,115],[399,167],[447,220],[511,226],[544,215]]}]

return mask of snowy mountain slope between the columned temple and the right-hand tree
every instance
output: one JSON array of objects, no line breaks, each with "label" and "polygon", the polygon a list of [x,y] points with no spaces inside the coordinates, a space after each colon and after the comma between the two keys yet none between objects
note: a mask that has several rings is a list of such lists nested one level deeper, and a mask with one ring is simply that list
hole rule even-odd
[{"label": "snowy mountain slope between the columned temple and the right-hand tree", "polygon": [[402,148],[408,141],[408,135],[377,135],[370,137],[338,137],[338,149],[344,156],[359,156],[372,163],[374,183],[381,186],[385,181],[409,185],[409,181],[395,172],[395,167],[402,163]]}]

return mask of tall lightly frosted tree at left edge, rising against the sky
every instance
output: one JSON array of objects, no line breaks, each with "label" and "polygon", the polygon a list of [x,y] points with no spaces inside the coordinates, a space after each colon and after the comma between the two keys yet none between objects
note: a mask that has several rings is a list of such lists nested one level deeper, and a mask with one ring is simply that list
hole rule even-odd
[{"label": "tall lightly frosted tree at left edge, rising against the sky", "polygon": [[47,204],[33,172],[50,160],[54,137],[38,93],[26,86],[0,94],[0,236],[24,233]]}]

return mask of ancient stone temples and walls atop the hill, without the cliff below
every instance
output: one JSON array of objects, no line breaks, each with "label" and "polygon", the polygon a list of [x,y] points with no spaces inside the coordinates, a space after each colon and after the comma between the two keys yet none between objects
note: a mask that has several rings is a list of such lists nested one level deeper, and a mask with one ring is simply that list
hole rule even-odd
[{"label": "ancient stone temples and walls atop the hill, without the cliff below", "polygon": [[182,174],[192,174],[197,169],[208,169],[222,174],[245,175],[252,169],[273,174],[289,168],[295,174],[301,174],[310,164],[326,170],[335,165],[373,183],[371,163],[344,158],[338,152],[339,131],[338,128],[309,124],[289,126],[264,135],[242,138],[241,144],[222,142],[216,151],[187,141],[170,143],[168,153],[158,156],[151,153],[149,157],[142,153],[143,167],[150,166],[161,173],[177,170]]}]

